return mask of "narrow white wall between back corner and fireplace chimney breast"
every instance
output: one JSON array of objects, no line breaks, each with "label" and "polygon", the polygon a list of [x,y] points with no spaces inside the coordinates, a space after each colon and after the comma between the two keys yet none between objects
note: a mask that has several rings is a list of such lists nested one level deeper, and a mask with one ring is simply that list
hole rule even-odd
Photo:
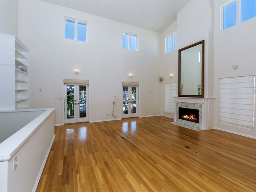
[{"label": "narrow white wall between back corner and fireplace chimney breast", "polygon": [[[160,52],[160,77],[163,77],[163,82],[161,83],[160,93],[161,93],[161,114],[169,117],[174,117],[173,113],[164,112],[164,102],[165,102],[165,83],[176,83],[178,82],[178,50],[174,50],[169,53],[165,53],[165,38],[172,35],[177,31],[177,22],[173,22],[165,31],[161,33],[161,52]],[[177,34],[177,39],[179,34]],[[170,78],[173,75],[173,78]]]}]

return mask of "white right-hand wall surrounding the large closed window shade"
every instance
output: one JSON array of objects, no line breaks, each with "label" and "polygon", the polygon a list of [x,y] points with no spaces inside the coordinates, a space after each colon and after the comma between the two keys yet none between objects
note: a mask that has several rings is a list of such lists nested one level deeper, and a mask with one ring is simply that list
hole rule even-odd
[{"label": "white right-hand wall surrounding the large closed window shade", "polygon": [[[228,1],[214,2],[214,126],[256,138],[255,130],[219,123],[219,78],[256,75],[256,17],[221,30],[220,7]],[[234,70],[232,65],[239,66]]]}]

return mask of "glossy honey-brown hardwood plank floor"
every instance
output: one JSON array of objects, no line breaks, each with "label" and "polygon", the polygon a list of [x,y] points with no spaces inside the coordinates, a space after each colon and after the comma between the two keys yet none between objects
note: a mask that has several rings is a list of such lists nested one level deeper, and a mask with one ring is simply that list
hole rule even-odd
[{"label": "glossy honey-brown hardwood plank floor", "polygon": [[55,128],[37,192],[255,192],[256,140],[163,116]]}]

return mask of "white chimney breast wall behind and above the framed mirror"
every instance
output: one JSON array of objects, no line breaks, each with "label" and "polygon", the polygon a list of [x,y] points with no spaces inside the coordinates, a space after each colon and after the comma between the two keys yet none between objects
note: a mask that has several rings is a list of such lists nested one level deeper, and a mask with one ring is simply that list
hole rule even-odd
[{"label": "white chimney breast wall behind and above the framed mirror", "polygon": [[[213,96],[213,1],[191,0],[177,13],[177,49],[205,40],[204,97]],[[211,42],[211,44],[209,43]],[[178,69],[177,69],[178,74]]]}]

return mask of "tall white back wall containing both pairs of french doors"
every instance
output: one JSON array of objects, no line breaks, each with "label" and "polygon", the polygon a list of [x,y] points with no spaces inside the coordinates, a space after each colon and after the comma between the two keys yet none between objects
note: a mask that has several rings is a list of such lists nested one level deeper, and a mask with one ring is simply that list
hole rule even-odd
[{"label": "tall white back wall containing both pairs of french doors", "polygon": [[[88,42],[64,39],[64,16],[88,22]],[[138,52],[122,49],[123,31],[138,35]],[[89,79],[90,121],[114,118],[122,81],[140,82],[140,116],[160,114],[160,33],[33,0],[19,1],[19,39],[30,50],[30,108],[56,108],[56,124],[63,123],[63,100],[55,100],[63,78]]]}]

